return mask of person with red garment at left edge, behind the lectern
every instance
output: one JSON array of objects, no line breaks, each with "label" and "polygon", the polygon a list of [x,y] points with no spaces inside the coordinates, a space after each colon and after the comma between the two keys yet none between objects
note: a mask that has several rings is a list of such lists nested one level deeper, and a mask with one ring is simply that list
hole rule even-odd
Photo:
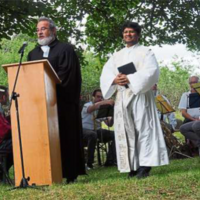
[{"label": "person with red garment at left edge, behind the lectern", "polygon": [[[11,140],[11,126],[9,120],[5,117],[2,105],[7,103],[7,88],[0,86],[0,150],[6,150],[10,152],[7,157],[7,171],[13,165],[13,155],[12,155],[12,140]],[[3,173],[0,171],[0,182],[3,179]]]}]

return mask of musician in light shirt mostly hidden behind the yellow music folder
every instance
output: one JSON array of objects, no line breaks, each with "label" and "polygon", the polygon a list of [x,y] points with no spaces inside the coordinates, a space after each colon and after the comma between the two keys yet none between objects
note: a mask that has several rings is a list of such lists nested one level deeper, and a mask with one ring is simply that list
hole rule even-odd
[{"label": "musician in light shirt mostly hidden behind the yellow music folder", "polygon": [[[157,84],[155,84],[152,88],[152,91],[154,93],[154,96],[158,96],[159,92],[158,92],[158,86]],[[163,99],[170,105],[169,100],[167,99],[167,97],[165,97],[164,95],[162,95]],[[158,110],[158,116],[161,119],[161,112]],[[170,131],[173,133],[176,125],[177,125],[177,121],[176,121],[176,117],[174,112],[171,113],[167,113],[163,115],[163,121],[166,123],[167,127],[170,129]]]}]

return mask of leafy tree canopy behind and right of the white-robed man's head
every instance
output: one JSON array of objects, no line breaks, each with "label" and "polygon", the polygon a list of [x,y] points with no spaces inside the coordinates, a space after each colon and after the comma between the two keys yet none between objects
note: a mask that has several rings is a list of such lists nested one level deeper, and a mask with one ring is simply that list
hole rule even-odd
[{"label": "leafy tree canopy behind and right of the white-robed man's head", "polygon": [[145,45],[177,42],[186,44],[190,49],[200,50],[199,0],[95,2],[88,13],[86,35],[88,43],[98,52],[108,53],[120,47],[119,25],[124,20],[142,24],[141,42]]}]

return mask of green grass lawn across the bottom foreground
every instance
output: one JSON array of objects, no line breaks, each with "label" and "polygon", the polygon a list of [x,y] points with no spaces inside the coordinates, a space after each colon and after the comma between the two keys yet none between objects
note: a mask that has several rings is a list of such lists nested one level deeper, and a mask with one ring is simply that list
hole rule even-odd
[{"label": "green grass lawn across the bottom foreground", "polygon": [[116,167],[96,167],[78,182],[55,184],[40,189],[17,189],[0,185],[0,199],[200,199],[200,158],[173,160],[155,167],[151,176],[128,179]]}]

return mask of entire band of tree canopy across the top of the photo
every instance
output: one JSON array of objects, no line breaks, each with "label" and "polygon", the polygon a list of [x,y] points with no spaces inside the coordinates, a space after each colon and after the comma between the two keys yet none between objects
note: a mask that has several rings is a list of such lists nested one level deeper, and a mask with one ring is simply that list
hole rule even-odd
[{"label": "entire band of tree canopy across the top of the photo", "polygon": [[55,20],[58,36],[76,41],[99,55],[121,48],[125,20],[143,26],[145,45],[183,43],[200,50],[200,0],[0,0],[0,38],[13,33],[33,35],[38,16]]}]

